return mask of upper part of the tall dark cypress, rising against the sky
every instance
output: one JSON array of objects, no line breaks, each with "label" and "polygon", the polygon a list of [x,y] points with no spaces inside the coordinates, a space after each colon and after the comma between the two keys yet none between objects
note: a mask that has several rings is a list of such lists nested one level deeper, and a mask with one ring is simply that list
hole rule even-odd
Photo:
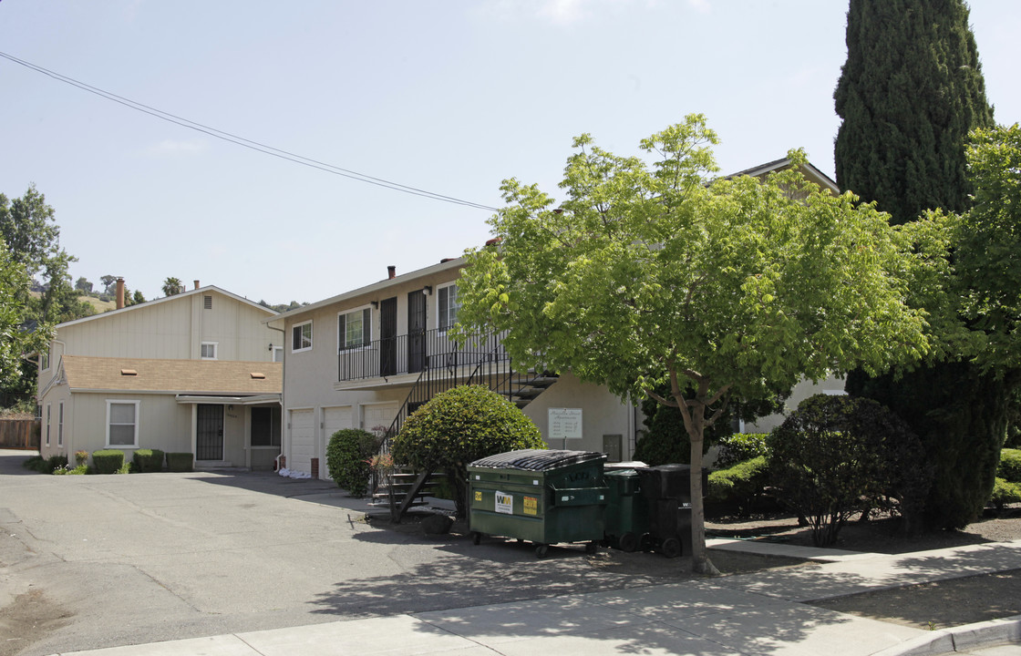
[{"label": "upper part of the tall dark cypress, rising against the sky", "polygon": [[893,223],[968,206],[964,143],[992,107],[962,0],[850,0],[836,182]]}]

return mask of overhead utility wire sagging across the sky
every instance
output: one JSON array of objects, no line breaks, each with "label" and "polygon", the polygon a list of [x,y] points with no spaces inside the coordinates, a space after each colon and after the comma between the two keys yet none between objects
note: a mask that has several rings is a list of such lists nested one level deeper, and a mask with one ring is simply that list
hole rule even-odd
[{"label": "overhead utility wire sagging across the sky", "polygon": [[224,132],[222,130],[216,130],[215,128],[210,128],[208,125],[203,125],[202,123],[196,122],[194,120],[189,120],[188,118],[183,118],[181,116],[177,116],[177,115],[172,114],[169,112],[162,111],[161,109],[156,109],[155,107],[150,107],[148,105],[142,104],[140,102],[136,102],[136,101],[131,100],[129,98],[124,98],[121,96],[117,96],[116,94],[110,93],[108,91],[104,91],[104,90],[99,89],[97,87],[93,87],[93,86],[88,85],[88,84],[86,84],[84,82],[79,82],[78,80],[75,80],[72,78],[68,78],[66,75],[63,75],[63,74],[58,73],[58,72],[55,72],[53,70],[49,70],[47,68],[39,66],[37,64],[34,64],[34,63],[30,62],[30,61],[26,61],[23,59],[18,59],[17,57],[14,57],[13,55],[9,55],[9,54],[7,54],[5,52],[0,52],[0,57],[3,57],[4,59],[8,59],[8,60],[10,60],[10,61],[12,61],[12,62],[14,62],[14,63],[16,63],[18,65],[25,66],[26,68],[30,68],[30,69],[35,70],[37,72],[41,72],[44,75],[48,75],[50,78],[53,78],[54,80],[56,80],[58,82],[62,82],[64,84],[71,85],[72,87],[77,87],[77,88],[79,88],[79,89],[81,89],[83,91],[87,91],[87,92],[89,92],[91,94],[95,94],[95,95],[97,95],[97,96],[99,96],[101,98],[105,98],[106,100],[111,100],[111,101],[113,101],[115,103],[118,103],[118,104],[124,105],[126,107],[129,107],[131,109],[135,109],[136,111],[141,111],[142,113],[146,113],[146,114],[149,114],[151,116],[155,116],[156,118],[160,118],[160,119],[165,120],[167,122],[175,123],[177,125],[181,125],[182,128],[187,128],[189,130],[194,130],[195,132],[200,132],[200,133],[203,133],[203,134],[208,135],[210,137],[213,137],[215,139],[227,141],[227,142],[230,142],[230,143],[238,145],[238,146],[243,146],[245,148],[249,148],[249,149],[254,150],[256,152],[263,153],[265,155],[272,155],[274,157],[279,157],[280,159],[286,159],[287,161],[291,161],[291,162],[294,162],[296,164],[301,164],[303,166],[308,166],[310,168],[317,168],[319,170],[323,170],[323,171],[326,171],[328,173],[333,173],[335,175],[341,175],[342,178],[348,178],[350,180],[354,180],[354,181],[361,182],[361,183],[368,183],[370,185],[376,185],[377,187],[382,187],[384,189],[389,189],[389,190],[392,190],[392,191],[403,192],[405,194],[410,194],[412,196],[421,196],[423,198],[430,198],[432,200],[443,201],[443,202],[446,202],[446,203],[453,203],[455,205],[464,205],[466,207],[475,207],[475,208],[478,208],[478,209],[484,209],[484,210],[488,210],[488,211],[494,211],[494,212],[497,211],[497,208],[491,207],[489,205],[483,205],[481,203],[474,203],[472,201],[461,200],[459,198],[454,198],[453,196],[445,196],[443,194],[437,194],[435,192],[430,192],[430,191],[426,191],[426,190],[423,190],[423,189],[418,189],[416,187],[408,187],[407,185],[401,185],[399,183],[390,182],[388,180],[383,180],[382,178],[374,178],[373,175],[367,175],[366,173],[359,173],[359,172],[354,171],[354,170],[350,170],[350,169],[347,169],[347,168],[342,168],[340,166],[336,166],[334,164],[330,164],[330,163],[327,163],[327,162],[319,161],[319,160],[312,159],[310,157],[305,157],[303,155],[298,155],[296,153],[292,153],[292,152],[289,152],[289,151],[286,151],[286,150],[281,150],[280,148],[274,148],[273,146],[268,146],[266,144],[261,144],[261,143],[259,143],[257,141],[252,141],[250,139],[245,139],[244,137],[239,137],[237,135],[232,135],[231,133]]}]

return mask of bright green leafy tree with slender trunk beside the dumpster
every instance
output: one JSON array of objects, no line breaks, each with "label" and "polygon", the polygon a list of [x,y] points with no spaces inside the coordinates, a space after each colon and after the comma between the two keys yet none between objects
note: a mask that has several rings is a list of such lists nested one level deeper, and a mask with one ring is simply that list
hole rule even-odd
[{"label": "bright green leafy tree with slender trunk beside the dumpster", "polygon": [[[499,247],[469,252],[458,281],[463,335],[506,330],[519,367],[677,407],[695,470],[720,401],[926,349],[885,214],[807,181],[796,151],[765,181],[712,178],[716,143],[701,115],[643,140],[651,165],[577,138],[564,202],[504,181]],[[715,572],[700,476],[690,492],[692,567]]]}]

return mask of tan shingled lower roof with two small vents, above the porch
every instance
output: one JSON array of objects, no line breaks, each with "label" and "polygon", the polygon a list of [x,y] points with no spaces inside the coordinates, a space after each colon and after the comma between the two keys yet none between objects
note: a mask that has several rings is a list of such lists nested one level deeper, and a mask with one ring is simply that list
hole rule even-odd
[{"label": "tan shingled lower roof with two small vents, above the porch", "polygon": [[[65,355],[59,377],[75,391],[249,396],[280,394],[280,362],[154,360]],[[259,377],[261,376],[261,377]]]}]

